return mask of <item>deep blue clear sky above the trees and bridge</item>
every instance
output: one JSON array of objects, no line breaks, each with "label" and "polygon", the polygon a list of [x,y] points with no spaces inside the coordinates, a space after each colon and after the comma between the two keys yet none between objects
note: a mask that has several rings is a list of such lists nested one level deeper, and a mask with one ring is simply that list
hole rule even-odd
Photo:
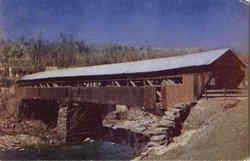
[{"label": "deep blue clear sky above the trees and bridge", "polygon": [[248,50],[240,0],[0,0],[0,36]]}]

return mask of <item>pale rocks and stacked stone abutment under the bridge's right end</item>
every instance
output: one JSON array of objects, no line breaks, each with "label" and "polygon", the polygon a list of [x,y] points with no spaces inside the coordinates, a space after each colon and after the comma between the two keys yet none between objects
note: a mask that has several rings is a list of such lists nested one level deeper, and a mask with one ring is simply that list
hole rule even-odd
[{"label": "pale rocks and stacked stone abutment under the bridge's right end", "polygon": [[[137,137],[132,141],[132,147],[136,147],[136,151],[139,151],[137,159],[143,159],[152,148],[167,146],[173,137],[180,135],[182,123],[194,104],[175,105],[163,116],[156,116],[138,108],[130,108],[121,112],[115,111],[107,117],[107,120],[104,120],[104,125],[112,129],[127,129],[134,134],[139,133],[145,136],[147,139],[140,140],[141,137]],[[130,144],[129,139],[127,144]]]}]

